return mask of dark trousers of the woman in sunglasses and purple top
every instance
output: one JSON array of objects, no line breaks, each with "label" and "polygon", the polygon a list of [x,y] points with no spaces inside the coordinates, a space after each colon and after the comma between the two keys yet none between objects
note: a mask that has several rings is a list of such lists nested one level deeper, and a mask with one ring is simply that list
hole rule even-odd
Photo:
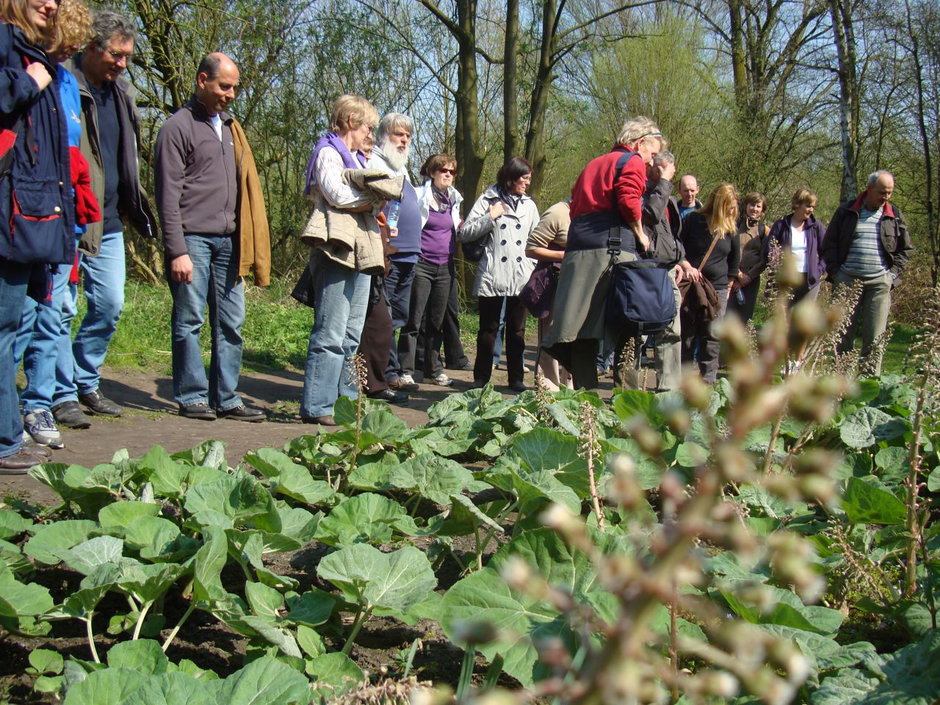
[{"label": "dark trousers of the woman in sunglasses and purple top", "polygon": [[[411,284],[408,322],[398,338],[398,363],[403,374],[414,374],[418,347],[423,348],[422,372],[438,375],[444,371],[435,341],[441,339],[441,327],[447,313],[447,297],[453,272],[450,264],[432,264],[419,259]],[[424,336],[419,331],[424,329]]]}]

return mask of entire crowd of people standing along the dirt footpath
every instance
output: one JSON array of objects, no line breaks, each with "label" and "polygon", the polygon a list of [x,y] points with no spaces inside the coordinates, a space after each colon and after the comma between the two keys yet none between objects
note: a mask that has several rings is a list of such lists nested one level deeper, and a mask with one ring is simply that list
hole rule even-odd
[{"label": "entire crowd of people standing along the dirt footpath", "polygon": [[[59,427],[122,413],[99,385],[124,303],[124,233],[158,232],[140,183],[134,91],[122,76],[135,42],[133,23],[107,8],[0,0],[0,349],[10,351],[0,358],[0,474],[48,460],[63,447]],[[154,202],[179,415],[260,422],[265,412],[237,387],[245,281],[269,283],[270,234],[251,148],[228,112],[238,85],[230,57],[202,59],[192,97],[157,136]],[[412,183],[409,116],[380,120],[366,98],[343,95],[329,120],[307,166],[312,213],[300,237],[310,254],[293,291],[314,311],[304,423],[335,425],[338,397],[360,388],[407,404],[419,381],[451,387],[447,369],[472,370],[482,388],[501,352],[509,391],[522,392],[529,315],[538,319],[534,380],[545,389],[594,389],[611,367],[615,383],[646,386],[647,349],[656,390],[675,388],[688,365],[713,383],[715,322],[728,311],[754,315],[761,274],[779,252],[799,273],[794,303],[815,297],[824,279],[860,284],[841,351],[860,335],[861,356],[880,371],[891,289],[912,251],[888,171],[873,172],[828,228],[805,188],[768,227],[759,193],[742,198],[723,183],[702,203],[685,174],[673,195],[667,139],[636,117],[584,167],[569,199],[540,214],[528,195],[532,167],[517,156],[462,218],[453,157],[431,155],[422,183]],[[458,249],[476,263],[473,362],[460,340]],[[87,311],[72,336],[79,283]],[[199,342],[207,310],[208,369]]]}]

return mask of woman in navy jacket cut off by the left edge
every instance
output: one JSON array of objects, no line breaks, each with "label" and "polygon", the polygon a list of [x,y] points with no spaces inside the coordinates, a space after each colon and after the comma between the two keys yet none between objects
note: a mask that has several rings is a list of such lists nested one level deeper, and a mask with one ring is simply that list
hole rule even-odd
[{"label": "woman in navy jacket cut off by the left edge", "polygon": [[56,0],[0,0],[0,474],[25,473],[46,457],[22,447],[12,351],[30,276],[48,278],[43,265],[75,256],[64,111],[44,50],[58,7]]}]

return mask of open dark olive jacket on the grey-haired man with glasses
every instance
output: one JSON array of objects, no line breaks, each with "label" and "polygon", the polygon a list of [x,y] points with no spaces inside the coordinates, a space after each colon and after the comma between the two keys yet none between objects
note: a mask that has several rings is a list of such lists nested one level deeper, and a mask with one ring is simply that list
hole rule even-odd
[{"label": "open dark olive jacket on the grey-haired man with glasses", "polygon": [[[67,68],[78,81],[78,92],[82,102],[82,139],[79,149],[88,161],[91,171],[91,189],[104,209],[104,168],[101,163],[101,147],[98,141],[98,109],[88,89],[88,81],[81,69],[82,55],[76,54]],[[140,167],[137,156],[140,149],[140,116],[134,103],[134,88],[123,78],[114,83],[115,106],[121,125],[120,181],[118,185],[118,212],[144,237],[156,237],[157,227],[147,194],[140,185]],[[104,223],[91,223],[79,243],[79,250],[97,257],[101,249]]]}]

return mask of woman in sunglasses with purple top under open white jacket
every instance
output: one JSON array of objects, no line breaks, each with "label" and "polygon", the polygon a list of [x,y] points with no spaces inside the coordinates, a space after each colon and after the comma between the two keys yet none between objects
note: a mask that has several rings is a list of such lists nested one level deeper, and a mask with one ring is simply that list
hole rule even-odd
[{"label": "woman in sunglasses with purple top under open white jacket", "polygon": [[[415,360],[423,358],[425,379],[441,387],[453,382],[444,373],[438,348],[454,278],[454,240],[460,227],[463,196],[454,188],[457,161],[435,154],[421,167],[424,185],[418,189],[421,208],[421,253],[411,285],[408,322],[398,339],[400,379],[413,375]],[[420,334],[424,324],[424,335]],[[421,346],[423,355],[419,356]]]}]

